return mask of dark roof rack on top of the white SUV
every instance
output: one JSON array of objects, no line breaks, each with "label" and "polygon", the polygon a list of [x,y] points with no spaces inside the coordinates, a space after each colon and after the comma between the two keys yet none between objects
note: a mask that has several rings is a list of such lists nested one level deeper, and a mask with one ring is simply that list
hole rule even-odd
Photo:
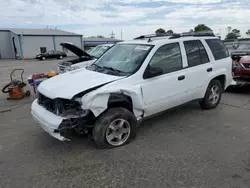
[{"label": "dark roof rack on top of the white SUV", "polygon": [[173,33],[173,34],[163,33],[163,34],[142,35],[142,36],[134,38],[134,40],[149,39],[148,42],[151,42],[152,41],[151,38],[165,37],[165,36],[169,36],[169,39],[176,39],[176,38],[188,37],[188,36],[215,37],[213,31],[199,31],[199,32]]}]

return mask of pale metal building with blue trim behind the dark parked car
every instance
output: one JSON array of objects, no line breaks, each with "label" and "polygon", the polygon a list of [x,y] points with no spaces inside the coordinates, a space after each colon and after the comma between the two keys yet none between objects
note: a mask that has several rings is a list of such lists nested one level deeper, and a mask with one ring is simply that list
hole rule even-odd
[{"label": "pale metal building with blue trim behind the dark parked car", "polygon": [[50,50],[65,51],[62,42],[71,42],[83,49],[82,35],[54,29],[0,29],[0,59],[34,58]]}]

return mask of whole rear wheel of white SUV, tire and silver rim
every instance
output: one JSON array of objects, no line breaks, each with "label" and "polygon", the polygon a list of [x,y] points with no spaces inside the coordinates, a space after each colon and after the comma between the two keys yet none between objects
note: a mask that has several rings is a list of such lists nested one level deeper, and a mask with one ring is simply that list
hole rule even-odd
[{"label": "whole rear wheel of white SUV, tire and silver rim", "polygon": [[222,85],[219,80],[212,80],[208,85],[205,97],[200,102],[203,109],[214,109],[218,106],[223,93]]}]

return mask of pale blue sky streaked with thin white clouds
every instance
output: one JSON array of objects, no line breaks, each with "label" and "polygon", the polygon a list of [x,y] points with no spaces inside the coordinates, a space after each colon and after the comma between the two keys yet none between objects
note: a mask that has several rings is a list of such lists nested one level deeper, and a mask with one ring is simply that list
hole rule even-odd
[{"label": "pale blue sky streaked with thin white clouds", "polygon": [[207,24],[225,36],[228,26],[250,29],[250,0],[0,0],[1,28],[57,27],[85,37],[132,39],[157,28],[189,31]]}]

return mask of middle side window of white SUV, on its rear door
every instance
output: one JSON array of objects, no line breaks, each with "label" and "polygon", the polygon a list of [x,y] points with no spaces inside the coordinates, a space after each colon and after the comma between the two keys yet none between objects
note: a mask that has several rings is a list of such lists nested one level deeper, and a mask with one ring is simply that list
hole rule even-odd
[{"label": "middle side window of white SUV, on its rear door", "polygon": [[187,53],[189,67],[194,67],[209,62],[207,52],[201,41],[185,41],[184,46]]}]

